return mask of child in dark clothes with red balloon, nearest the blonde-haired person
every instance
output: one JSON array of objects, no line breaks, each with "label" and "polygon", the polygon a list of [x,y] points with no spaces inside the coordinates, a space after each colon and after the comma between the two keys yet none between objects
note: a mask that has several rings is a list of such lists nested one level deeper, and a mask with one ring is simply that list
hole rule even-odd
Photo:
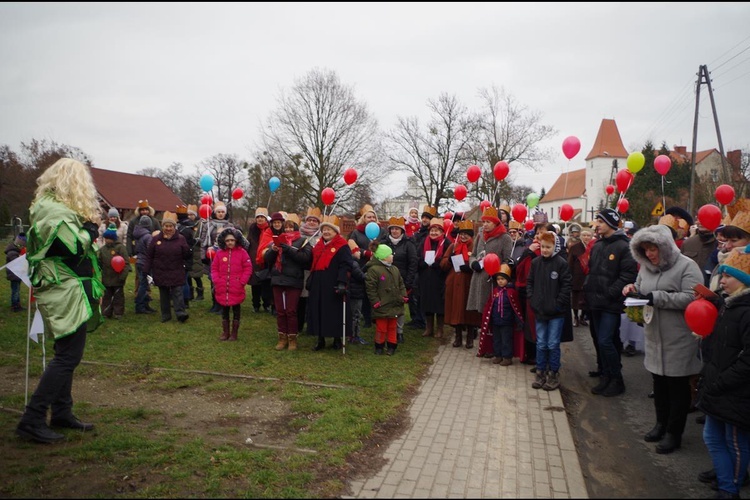
[{"label": "child in dark clothes with red balloon, nearest the blonde-haired person", "polygon": [[114,224],[110,224],[102,237],[104,246],[97,250],[104,284],[102,315],[105,318],[120,319],[125,314],[124,287],[130,273],[130,259],[125,245],[118,241],[117,227]]}]

